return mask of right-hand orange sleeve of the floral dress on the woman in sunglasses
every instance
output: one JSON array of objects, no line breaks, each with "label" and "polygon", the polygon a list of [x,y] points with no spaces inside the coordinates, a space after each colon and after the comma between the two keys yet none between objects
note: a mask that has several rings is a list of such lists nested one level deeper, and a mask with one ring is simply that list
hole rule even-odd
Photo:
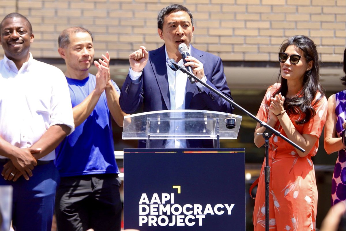
[{"label": "right-hand orange sleeve of the floral dress on the woman in sunglasses", "polygon": [[312,102],[316,115],[312,117],[309,122],[304,124],[302,134],[311,134],[316,135],[317,137],[321,136],[323,126],[326,123],[328,101],[325,96],[322,96],[321,99],[316,103],[320,96],[321,93],[317,92],[316,97]]}]

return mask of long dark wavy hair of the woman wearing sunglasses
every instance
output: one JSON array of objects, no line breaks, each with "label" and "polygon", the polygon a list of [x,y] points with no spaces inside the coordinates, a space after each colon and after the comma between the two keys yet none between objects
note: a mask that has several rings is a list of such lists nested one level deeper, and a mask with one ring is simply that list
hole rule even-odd
[{"label": "long dark wavy hair of the woman wearing sunglasses", "polygon": [[[321,96],[316,100],[316,103],[324,96],[323,89],[320,84],[319,76],[319,58],[317,53],[316,44],[307,36],[295,35],[286,39],[280,46],[280,52],[285,52],[286,48],[290,45],[298,47],[304,53],[304,57],[309,61],[313,61],[313,66],[310,70],[306,71],[303,79],[303,87],[300,95],[293,98],[285,98],[284,109],[289,114],[297,114],[299,118],[295,121],[296,124],[304,124],[316,115],[313,109],[312,101],[319,91]],[[277,89],[273,96],[281,94],[286,96],[288,93],[287,80],[282,78],[281,71],[278,76],[278,81],[281,78],[281,87]]]}]

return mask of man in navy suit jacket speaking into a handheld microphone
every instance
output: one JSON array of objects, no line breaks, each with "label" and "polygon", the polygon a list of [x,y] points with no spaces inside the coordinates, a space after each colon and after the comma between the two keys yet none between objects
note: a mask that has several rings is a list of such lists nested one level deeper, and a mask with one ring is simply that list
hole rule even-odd
[{"label": "man in navy suit jacket speaking into a handheld microphone", "polygon": [[[119,98],[120,107],[125,113],[134,113],[142,104],[144,112],[170,109],[233,112],[233,106],[226,100],[200,82],[191,83],[187,74],[174,71],[167,65],[167,61],[173,59],[179,66],[190,66],[199,81],[208,83],[231,98],[220,57],[192,47],[193,31],[193,17],[186,7],[175,4],[160,11],[157,32],[165,44],[150,52],[146,51],[145,46],[140,46],[139,50],[130,54],[131,68]],[[184,60],[182,54],[186,56]],[[213,147],[212,140],[175,141],[173,146],[170,142],[172,140],[152,140],[151,148]],[[145,141],[139,141],[139,148],[145,148]]]}]

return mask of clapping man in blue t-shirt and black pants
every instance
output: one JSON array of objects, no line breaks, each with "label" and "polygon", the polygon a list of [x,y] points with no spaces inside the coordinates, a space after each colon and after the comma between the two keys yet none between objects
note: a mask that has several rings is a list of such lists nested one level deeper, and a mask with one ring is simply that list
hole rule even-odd
[{"label": "clapping man in blue t-shirt and black pants", "polygon": [[120,180],[111,117],[122,126],[126,114],[119,106],[120,90],[110,79],[109,54],[94,61],[95,76],[88,72],[94,57],[89,30],[65,29],[58,42],[76,128],[56,148],[55,165],[61,176],[56,191],[57,227],[64,231],[120,230]]}]

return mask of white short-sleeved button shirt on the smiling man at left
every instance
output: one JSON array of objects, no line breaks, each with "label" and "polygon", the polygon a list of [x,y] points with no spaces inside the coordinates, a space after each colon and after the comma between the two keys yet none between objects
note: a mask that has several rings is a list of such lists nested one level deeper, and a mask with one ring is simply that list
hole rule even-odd
[{"label": "white short-sleeved button shirt on the smiling man at left", "polygon": [[[18,148],[36,143],[49,127],[74,131],[70,92],[63,72],[33,59],[20,70],[6,55],[0,60],[0,136]],[[0,158],[5,158],[0,155]],[[55,150],[40,160],[54,160]]]}]

